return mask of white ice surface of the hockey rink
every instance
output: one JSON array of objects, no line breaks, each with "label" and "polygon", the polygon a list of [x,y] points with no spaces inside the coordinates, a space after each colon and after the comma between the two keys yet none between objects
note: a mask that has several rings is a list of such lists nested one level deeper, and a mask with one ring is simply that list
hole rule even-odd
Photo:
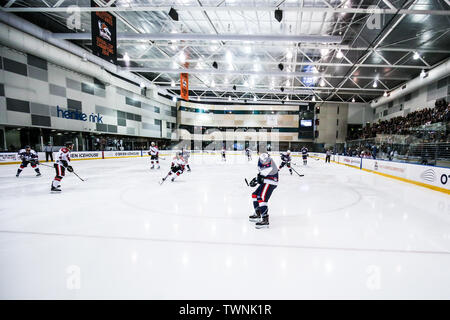
[{"label": "white ice surface of the hockey rink", "polygon": [[162,186],[168,157],[74,161],[61,194],[0,166],[0,298],[450,299],[448,195],[309,159],[256,230],[256,155],[191,160]]}]

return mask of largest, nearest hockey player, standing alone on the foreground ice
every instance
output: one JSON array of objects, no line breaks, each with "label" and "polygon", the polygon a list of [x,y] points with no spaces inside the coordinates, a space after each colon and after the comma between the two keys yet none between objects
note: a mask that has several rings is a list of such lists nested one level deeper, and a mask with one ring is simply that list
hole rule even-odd
[{"label": "largest, nearest hockey player, standing alone on the foreground ice", "polygon": [[256,222],[256,229],[269,227],[269,209],[267,202],[273,190],[278,185],[278,167],[267,153],[262,153],[258,160],[258,175],[250,181],[251,187],[258,188],[252,193],[255,214],[249,216],[250,221]]}]

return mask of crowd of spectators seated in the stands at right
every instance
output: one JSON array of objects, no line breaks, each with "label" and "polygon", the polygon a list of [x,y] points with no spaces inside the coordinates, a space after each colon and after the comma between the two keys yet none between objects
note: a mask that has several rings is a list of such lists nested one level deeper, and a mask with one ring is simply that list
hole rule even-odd
[{"label": "crowd of spectators seated in the stands at right", "polygon": [[395,117],[365,126],[362,130],[354,132],[349,140],[369,139],[377,134],[411,134],[411,130],[422,125],[450,121],[450,105],[445,100],[436,101],[434,108],[425,108],[414,111],[405,117]]}]

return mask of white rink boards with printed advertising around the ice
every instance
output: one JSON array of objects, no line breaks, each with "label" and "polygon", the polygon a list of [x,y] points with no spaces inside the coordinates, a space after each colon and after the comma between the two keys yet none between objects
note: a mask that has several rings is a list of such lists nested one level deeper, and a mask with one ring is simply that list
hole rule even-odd
[{"label": "white rink boards with printed advertising around the ice", "polygon": [[[160,156],[171,156],[179,150],[161,151]],[[221,151],[191,151],[192,156],[197,155],[220,155]],[[39,152],[39,159],[45,159],[45,153]],[[53,153],[54,157],[56,153]],[[235,151],[227,152],[230,155],[244,155],[244,152]],[[293,152],[294,157],[300,157],[301,154]],[[325,159],[324,153],[310,152],[311,157]],[[147,151],[82,151],[71,152],[72,160],[101,160],[114,158],[132,158],[132,157],[148,157]],[[337,164],[346,165],[348,167],[364,170],[380,174],[385,177],[394,178],[400,181],[413,183],[422,187],[441,191],[450,194],[450,169],[443,167],[423,166],[411,163],[392,162],[385,160],[374,160],[357,157],[347,157],[341,155],[332,155],[331,161]],[[17,153],[0,154],[1,164],[19,164],[20,160]]]}]

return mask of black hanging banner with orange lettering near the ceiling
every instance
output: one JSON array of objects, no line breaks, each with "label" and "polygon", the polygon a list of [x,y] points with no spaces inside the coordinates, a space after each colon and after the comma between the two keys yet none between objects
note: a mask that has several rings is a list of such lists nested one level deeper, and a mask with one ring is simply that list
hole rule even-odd
[{"label": "black hanging banner with orange lettering near the ceiling", "polygon": [[[98,5],[91,0],[91,7]],[[91,12],[92,53],[108,62],[117,63],[116,17],[106,11]]]}]

